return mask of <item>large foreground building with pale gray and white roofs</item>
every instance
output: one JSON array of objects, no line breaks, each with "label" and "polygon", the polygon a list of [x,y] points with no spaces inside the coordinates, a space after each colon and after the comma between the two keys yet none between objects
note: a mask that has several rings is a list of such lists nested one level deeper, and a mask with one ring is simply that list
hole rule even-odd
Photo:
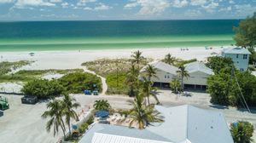
[{"label": "large foreground building with pale gray and white roofs", "polygon": [[93,125],[79,143],[233,143],[221,112],[195,106],[155,106],[165,117],[146,129],[111,124]]}]

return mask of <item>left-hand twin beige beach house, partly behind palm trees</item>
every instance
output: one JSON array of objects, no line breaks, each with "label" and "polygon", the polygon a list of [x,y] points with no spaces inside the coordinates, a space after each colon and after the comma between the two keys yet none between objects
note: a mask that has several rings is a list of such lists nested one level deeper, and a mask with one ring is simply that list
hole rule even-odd
[{"label": "left-hand twin beige beach house, partly behind palm trees", "polygon": [[[156,68],[157,77],[152,77],[150,80],[154,82],[154,86],[169,87],[169,83],[173,78],[177,78],[177,67],[168,65],[162,61],[155,61],[150,63],[151,66]],[[144,66],[140,71],[141,75],[145,72],[147,66]]]}]

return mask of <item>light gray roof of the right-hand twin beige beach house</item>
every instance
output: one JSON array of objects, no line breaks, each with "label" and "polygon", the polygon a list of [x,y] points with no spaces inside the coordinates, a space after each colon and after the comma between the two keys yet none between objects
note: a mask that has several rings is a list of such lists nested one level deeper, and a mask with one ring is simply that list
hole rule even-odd
[{"label": "light gray roof of the right-hand twin beige beach house", "polygon": [[204,63],[199,61],[195,61],[195,62],[186,64],[184,66],[185,66],[185,70],[188,71],[189,73],[204,72],[204,73],[207,73],[208,75],[214,74],[214,72],[212,72],[212,69],[208,68],[207,66],[205,66]]}]

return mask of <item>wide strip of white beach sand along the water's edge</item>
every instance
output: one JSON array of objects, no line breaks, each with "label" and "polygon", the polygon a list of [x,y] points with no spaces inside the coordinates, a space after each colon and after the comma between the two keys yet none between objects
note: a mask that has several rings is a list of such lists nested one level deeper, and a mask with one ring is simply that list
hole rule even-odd
[{"label": "wide strip of white beach sand along the water's edge", "polygon": [[[163,59],[168,53],[173,56],[189,60],[196,58],[197,60],[206,60],[212,52],[219,53],[220,47],[212,47],[213,49],[205,49],[204,47],[193,47],[189,50],[181,51],[180,48],[165,49],[139,49],[143,51],[143,56],[154,60]],[[97,60],[101,58],[130,58],[131,53],[137,49],[104,49],[104,50],[60,50],[60,51],[38,51],[34,56],[30,56],[27,52],[0,52],[0,61],[17,61],[17,60],[34,60],[31,66],[24,66],[26,70],[42,70],[42,69],[73,69],[80,68],[85,61]]]}]

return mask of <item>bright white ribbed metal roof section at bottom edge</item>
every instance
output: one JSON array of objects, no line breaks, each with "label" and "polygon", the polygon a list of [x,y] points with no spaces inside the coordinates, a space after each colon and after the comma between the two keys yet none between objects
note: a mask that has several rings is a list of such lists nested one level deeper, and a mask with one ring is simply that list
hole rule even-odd
[{"label": "bright white ribbed metal roof section at bottom edge", "polygon": [[91,143],[171,143],[158,140],[146,140],[140,138],[133,138],[128,136],[120,136],[113,134],[95,133]]}]

